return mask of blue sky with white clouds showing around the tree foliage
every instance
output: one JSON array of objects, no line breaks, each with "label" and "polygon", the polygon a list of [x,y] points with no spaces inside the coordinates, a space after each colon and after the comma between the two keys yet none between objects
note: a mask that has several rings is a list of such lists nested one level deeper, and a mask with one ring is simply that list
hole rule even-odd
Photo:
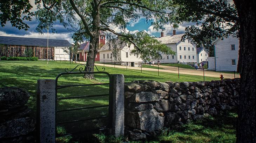
[{"label": "blue sky with white clouds showing around the tree foliage", "polygon": [[[33,5],[34,0],[31,0],[31,4]],[[33,7],[32,11],[35,11],[35,6]],[[36,31],[36,26],[38,25],[38,22],[33,18],[32,21],[25,21],[29,25],[29,30],[19,30],[15,27],[12,27],[12,25],[7,22],[5,27],[0,26],[0,36],[15,36],[15,37],[30,37],[30,38],[47,38],[47,33],[40,34],[38,31]],[[188,25],[193,25],[194,23],[183,23],[179,25],[179,28],[176,29],[176,34],[184,33],[185,28]],[[63,27],[61,23],[55,23],[53,26],[56,29],[56,33],[52,33],[49,31],[49,39],[63,39],[68,40],[70,43],[73,43],[72,35],[73,33],[68,31],[66,28]],[[165,25],[166,28],[164,32],[164,36],[173,35],[173,28],[170,25]],[[110,25],[110,28],[115,30],[116,32],[119,31],[117,27],[114,27],[113,25]],[[144,30],[149,35],[160,37],[161,31],[156,31],[153,29],[150,24],[147,24],[145,21],[145,18],[140,18],[136,22],[130,22],[130,25],[127,27],[127,30],[134,33],[136,31]]]}]

